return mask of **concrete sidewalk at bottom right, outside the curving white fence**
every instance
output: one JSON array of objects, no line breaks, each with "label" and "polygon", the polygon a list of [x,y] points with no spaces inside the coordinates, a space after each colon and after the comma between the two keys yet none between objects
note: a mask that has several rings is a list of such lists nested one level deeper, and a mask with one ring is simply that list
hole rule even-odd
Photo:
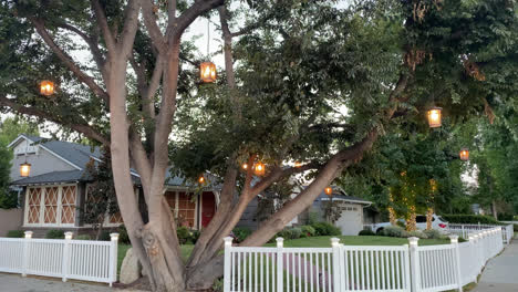
[{"label": "concrete sidewalk at bottom right, outside the curving white fence", "polygon": [[474,292],[518,291],[518,240],[515,239],[498,257],[489,260]]}]

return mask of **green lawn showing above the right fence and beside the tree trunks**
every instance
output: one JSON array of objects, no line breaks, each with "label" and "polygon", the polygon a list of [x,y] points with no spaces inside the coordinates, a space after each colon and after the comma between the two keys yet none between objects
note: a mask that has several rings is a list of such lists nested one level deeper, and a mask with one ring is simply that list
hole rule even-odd
[{"label": "green lawn showing above the right fence and beside the tree trunks", "polygon": [[[331,247],[332,237],[312,237],[312,238],[300,238],[293,240],[284,241],[284,247],[289,248],[329,248]],[[340,238],[340,243],[345,246],[402,246],[407,244],[408,240],[406,238],[391,238],[391,237],[338,237]],[[447,244],[449,240],[447,239],[421,239],[419,246],[434,246],[434,244]],[[266,247],[274,247],[276,243],[267,243]],[[126,255],[127,249],[131,246],[128,244],[118,244],[118,271],[121,271],[121,264]],[[193,251],[193,244],[185,244],[180,247],[182,258],[184,261],[187,261],[190,252]]]}]

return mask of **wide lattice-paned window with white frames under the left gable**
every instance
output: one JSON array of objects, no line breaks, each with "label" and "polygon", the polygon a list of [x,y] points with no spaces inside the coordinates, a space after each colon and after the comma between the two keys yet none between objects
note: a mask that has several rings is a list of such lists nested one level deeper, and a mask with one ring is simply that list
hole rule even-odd
[{"label": "wide lattice-paned window with white frames under the left gable", "polygon": [[76,186],[29,187],[25,223],[41,226],[75,222]]}]

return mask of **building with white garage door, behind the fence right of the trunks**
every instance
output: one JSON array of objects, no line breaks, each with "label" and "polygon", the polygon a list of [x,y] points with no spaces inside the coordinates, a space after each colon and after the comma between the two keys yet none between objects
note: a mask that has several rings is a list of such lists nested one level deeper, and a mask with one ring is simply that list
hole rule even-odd
[{"label": "building with white garage door, behind the fence right of the trunks", "polygon": [[[292,197],[297,196],[297,192]],[[257,229],[260,225],[258,220],[259,212],[263,210],[259,207],[261,197],[253,199],[245,210],[241,219],[239,220],[239,227],[246,227],[249,229]],[[338,219],[334,220],[333,225],[342,230],[343,236],[358,236],[363,230],[364,225],[364,211],[363,209],[372,205],[362,198],[346,196],[342,190],[335,188],[333,195],[330,197],[322,192],[313,201],[313,205],[299,213],[288,226],[302,226],[308,222],[310,216],[315,216],[319,221],[333,221],[327,218],[325,208],[329,202],[332,202],[332,208],[339,213]]]}]

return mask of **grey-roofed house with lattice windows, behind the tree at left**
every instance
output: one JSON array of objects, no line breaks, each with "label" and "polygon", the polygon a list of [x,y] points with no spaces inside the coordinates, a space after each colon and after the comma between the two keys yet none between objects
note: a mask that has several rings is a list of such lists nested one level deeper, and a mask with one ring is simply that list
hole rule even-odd
[{"label": "grey-roofed house with lattice windows, behind the tree at left", "polygon": [[[92,185],[86,165],[91,159],[101,161],[100,149],[30,135],[20,135],[9,147],[14,153],[11,188],[19,191],[23,209],[20,229],[31,230],[35,237],[43,237],[51,229],[92,233],[93,228],[82,221],[81,211]],[[31,165],[29,177],[20,176],[24,163]],[[144,202],[138,174],[132,171],[132,176],[135,196]],[[169,174],[165,189],[165,197],[182,225],[200,229],[210,222],[218,202],[217,189],[194,194],[183,178]],[[145,205],[141,204],[141,208],[145,209]],[[115,228],[121,223],[121,215],[115,213],[106,217],[104,226]]]}]

